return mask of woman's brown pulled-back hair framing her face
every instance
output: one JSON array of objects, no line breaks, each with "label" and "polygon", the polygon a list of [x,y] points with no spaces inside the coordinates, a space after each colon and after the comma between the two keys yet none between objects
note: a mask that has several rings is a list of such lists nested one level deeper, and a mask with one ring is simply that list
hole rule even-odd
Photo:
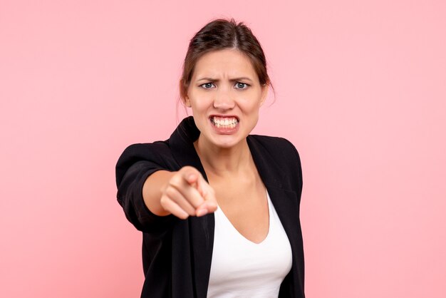
[{"label": "woman's brown pulled-back hair framing her face", "polygon": [[198,59],[210,51],[226,48],[235,48],[247,55],[259,77],[260,84],[268,85],[272,88],[266,72],[264,51],[256,36],[252,34],[251,29],[242,22],[237,24],[234,19],[216,19],[206,24],[190,40],[180,80],[180,97],[183,100],[187,96],[187,88]]}]

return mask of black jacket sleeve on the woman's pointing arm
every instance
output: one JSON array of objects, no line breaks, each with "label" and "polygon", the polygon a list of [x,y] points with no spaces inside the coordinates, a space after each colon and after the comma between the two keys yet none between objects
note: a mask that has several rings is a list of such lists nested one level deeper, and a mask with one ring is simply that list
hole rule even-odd
[{"label": "black jacket sleeve on the woman's pointing arm", "polygon": [[116,164],[117,198],[125,217],[142,232],[165,230],[175,216],[158,216],[145,205],[142,186],[157,170],[178,170],[166,142],[130,145]]}]

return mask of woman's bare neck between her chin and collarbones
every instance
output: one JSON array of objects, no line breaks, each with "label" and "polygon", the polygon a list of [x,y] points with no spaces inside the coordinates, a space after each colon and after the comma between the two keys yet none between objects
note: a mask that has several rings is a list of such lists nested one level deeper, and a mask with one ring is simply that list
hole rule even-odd
[{"label": "woman's bare neck between her chin and collarbones", "polygon": [[198,138],[194,143],[195,150],[204,169],[215,175],[234,174],[246,169],[251,163],[251,153],[246,138],[231,148],[220,148],[204,142],[202,138]]}]

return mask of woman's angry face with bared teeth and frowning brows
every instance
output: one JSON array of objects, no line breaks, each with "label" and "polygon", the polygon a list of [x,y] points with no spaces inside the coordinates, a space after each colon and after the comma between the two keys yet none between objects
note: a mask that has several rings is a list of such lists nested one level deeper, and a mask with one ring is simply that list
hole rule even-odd
[{"label": "woman's angry face with bared teeth and frowning brows", "polygon": [[220,148],[239,144],[256,125],[267,92],[244,53],[224,49],[204,54],[195,64],[185,98],[200,141]]}]

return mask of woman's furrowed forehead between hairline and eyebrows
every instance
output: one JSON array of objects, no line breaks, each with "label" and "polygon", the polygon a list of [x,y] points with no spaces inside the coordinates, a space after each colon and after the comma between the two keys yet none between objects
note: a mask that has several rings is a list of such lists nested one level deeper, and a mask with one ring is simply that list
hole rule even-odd
[{"label": "woman's furrowed forehead between hairline and eyebrows", "polygon": [[224,49],[205,53],[195,64],[192,79],[202,76],[249,76],[253,79],[257,78],[251,60],[237,49]]}]

